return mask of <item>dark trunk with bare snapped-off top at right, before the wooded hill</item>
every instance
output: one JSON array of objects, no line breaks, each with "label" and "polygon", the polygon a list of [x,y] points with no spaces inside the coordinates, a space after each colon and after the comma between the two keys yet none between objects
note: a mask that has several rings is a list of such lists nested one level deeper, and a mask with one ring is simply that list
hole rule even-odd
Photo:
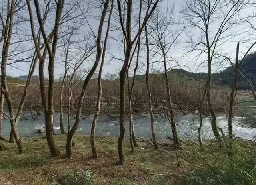
[{"label": "dark trunk with bare snapped-off top at right, before the wooded hill", "polygon": [[232,89],[230,92],[230,104],[228,110],[228,136],[230,139],[233,138],[232,132],[232,114],[233,114],[233,102],[235,98],[235,91],[236,91],[236,84],[237,84],[237,77],[238,77],[238,55],[239,55],[239,42],[236,46],[236,61],[235,61],[235,68],[234,68],[234,81],[232,85]]}]

